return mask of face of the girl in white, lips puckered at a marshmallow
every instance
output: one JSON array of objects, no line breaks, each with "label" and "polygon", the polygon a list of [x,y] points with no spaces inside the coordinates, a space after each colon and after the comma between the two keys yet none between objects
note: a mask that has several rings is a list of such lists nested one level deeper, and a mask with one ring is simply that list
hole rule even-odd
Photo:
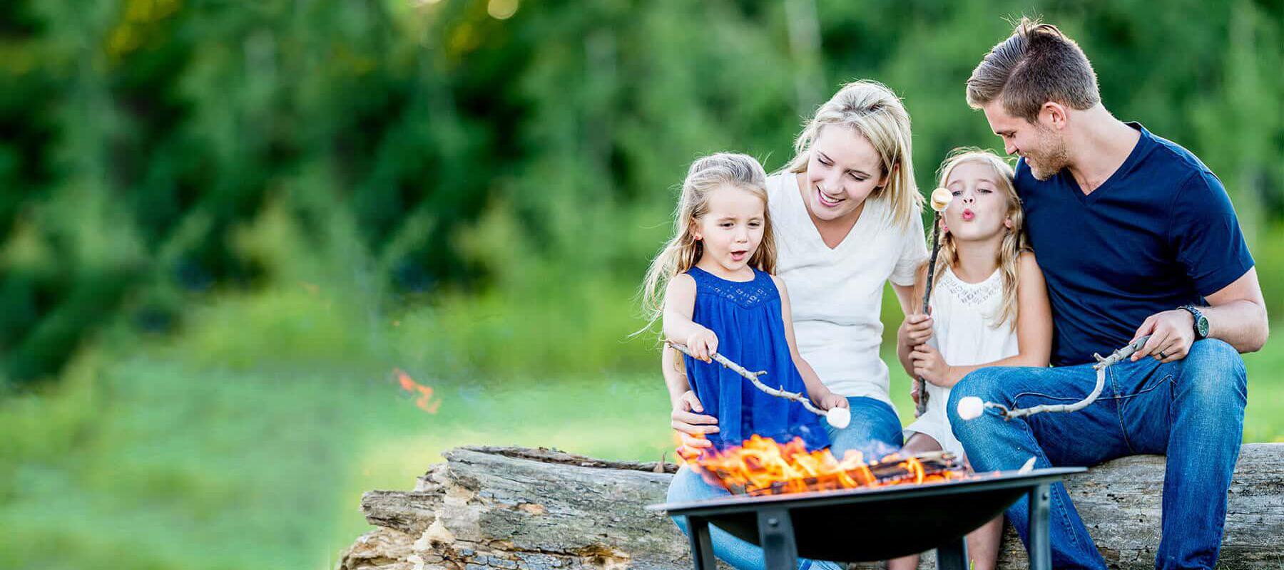
[{"label": "face of the girl in white, lips puckered at a marshmallow", "polygon": [[945,209],[945,227],[955,240],[989,240],[1012,227],[1007,191],[989,164],[969,160],[955,166],[945,187],[954,195]]}]

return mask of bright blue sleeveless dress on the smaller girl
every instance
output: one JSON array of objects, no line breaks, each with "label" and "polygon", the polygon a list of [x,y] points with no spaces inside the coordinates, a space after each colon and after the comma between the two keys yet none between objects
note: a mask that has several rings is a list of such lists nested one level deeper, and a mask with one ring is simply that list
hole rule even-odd
[{"label": "bright blue sleeveless dress on the smaller girl", "polygon": [[[802,376],[794,366],[785,320],[781,317],[781,294],[772,276],[754,270],[751,281],[729,281],[698,267],[687,272],[696,280],[696,306],[692,320],[718,335],[718,352],[749,371],[765,370],[759,376],[770,388],[806,395]],[[691,389],[700,398],[705,413],[718,419],[720,429],[709,434],[716,449],[740,445],[758,434],[787,443],[802,438],[808,449],[829,445],[829,436],[819,417],[802,404],[769,395],[725,368],[716,361],[707,363],[683,357]]]}]

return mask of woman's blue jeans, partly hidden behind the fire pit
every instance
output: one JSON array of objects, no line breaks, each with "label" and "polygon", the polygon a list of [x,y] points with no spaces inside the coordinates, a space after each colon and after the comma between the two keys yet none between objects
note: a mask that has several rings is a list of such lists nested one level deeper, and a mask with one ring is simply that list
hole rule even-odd
[{"label": "woman's blue jeans, partly hidden behind the fire pit", "polygon": [[[846,429],[838,430],[828,424],[823,424],[829,433],[831,449],[835,457],[841,458],[847,449],[858,449],[865,457],[878,456],[896,451],[901,445],[900,419],[896,412],[885,402],[873,398],[847,398],[851,404],[851,424]],[[687,466],[682,466],[669,484],[670,503],[684,503],[718,497],[729,493],[720,487],[710,485]],[[673,521],[683,533],[687,533],[687,519],[675,516]],[[732,537],[725,530],[715,525],[709,528],[714,544],[714,555],[738,570],[761,570],[765,566],[763,549]],[[841,566],[835,562],[818,560],[799,560],[799,569],[824,569],[838,570]]]}]

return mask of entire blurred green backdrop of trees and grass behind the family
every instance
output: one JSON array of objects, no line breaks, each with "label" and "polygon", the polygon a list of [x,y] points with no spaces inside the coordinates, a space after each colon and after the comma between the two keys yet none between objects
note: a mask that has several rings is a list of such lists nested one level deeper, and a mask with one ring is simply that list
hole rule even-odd
[{"label": "entire blurred green backdrop of trees and grass behind the family", "polygon": [[[659,458],[629,334],[691,159],[779,168],[874,78],[931,187],[999,146],[963,81],[1021,14],[1222,178],[1284,315],[1278,1],[4,4],[6,565],[330,567],[448,447]],[[1284,440],[1284,349],[1245,362],[1244,439]]]}]

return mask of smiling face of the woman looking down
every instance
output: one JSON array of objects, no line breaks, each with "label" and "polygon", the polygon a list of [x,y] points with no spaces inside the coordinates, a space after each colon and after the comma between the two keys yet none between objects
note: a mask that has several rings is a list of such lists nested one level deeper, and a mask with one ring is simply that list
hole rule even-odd
[{"label": "smiling face of the woman looking down", "polygon": [[810,154],[804,202],[820,220],[854,214],[874,189],[887,184],[878,150],[849,127],[822,127]]}]

